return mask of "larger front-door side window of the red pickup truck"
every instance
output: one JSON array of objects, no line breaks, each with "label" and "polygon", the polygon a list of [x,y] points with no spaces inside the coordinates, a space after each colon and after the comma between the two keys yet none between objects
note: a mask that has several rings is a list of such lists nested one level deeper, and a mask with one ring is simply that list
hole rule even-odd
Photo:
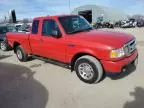
[{"label": "larger front-door side window of the red pickup truck", "polygon": [[43,36],[53,36],[54,32],[60,33],[60,29],[58,28],[57,23],[52,19],[44,20],[43,28],[42,28],[42,35]]}]

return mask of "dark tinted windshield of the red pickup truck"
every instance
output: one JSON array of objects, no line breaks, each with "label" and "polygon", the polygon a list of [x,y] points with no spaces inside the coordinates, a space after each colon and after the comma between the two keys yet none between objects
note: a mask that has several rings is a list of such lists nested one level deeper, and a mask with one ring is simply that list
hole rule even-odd
[{"label": "dark tinted windshield of the red pickup truck", "polygon": [[91,30],[92,26],[81,16],[64,16],[59,18],[67,34]]}]

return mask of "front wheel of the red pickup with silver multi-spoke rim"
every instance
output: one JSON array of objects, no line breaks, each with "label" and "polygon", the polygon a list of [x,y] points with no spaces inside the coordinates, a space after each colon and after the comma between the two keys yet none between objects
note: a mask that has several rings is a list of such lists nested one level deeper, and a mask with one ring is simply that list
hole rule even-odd
[{"label": "front wheel of the red pickup with silver multi-spoke rim", "polygon": [[74,68],[79,79],[85,83],[98,83],[103,78],[102,65],[92,56],[80,57]]}]

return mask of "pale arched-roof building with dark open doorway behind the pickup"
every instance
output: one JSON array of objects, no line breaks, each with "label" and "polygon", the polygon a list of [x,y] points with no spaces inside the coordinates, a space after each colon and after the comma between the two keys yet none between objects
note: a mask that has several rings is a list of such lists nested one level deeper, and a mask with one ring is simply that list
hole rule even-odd
[{"label": "pale arched-roof building with dark open doorway behind the pickup", "polygon": [[75,8],[72,14],[82,15],[90,23],[97,22],[97,19],[103,16],[104,21],[116,22],[120,20],[127,20],[127,16],[115,9],[97,6],[97,5],[84,5]]}]

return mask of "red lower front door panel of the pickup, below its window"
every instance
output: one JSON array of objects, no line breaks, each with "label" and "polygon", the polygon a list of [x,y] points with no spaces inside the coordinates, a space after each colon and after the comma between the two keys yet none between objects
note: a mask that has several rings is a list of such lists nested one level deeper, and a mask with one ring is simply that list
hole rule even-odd
[{"label": "red lower front door panel of the pickup, below its window", "polygon": [[66,62],[67,44],[65,43],[65,38],[43,37],[42,41],[42,56],[64,63]]}]

